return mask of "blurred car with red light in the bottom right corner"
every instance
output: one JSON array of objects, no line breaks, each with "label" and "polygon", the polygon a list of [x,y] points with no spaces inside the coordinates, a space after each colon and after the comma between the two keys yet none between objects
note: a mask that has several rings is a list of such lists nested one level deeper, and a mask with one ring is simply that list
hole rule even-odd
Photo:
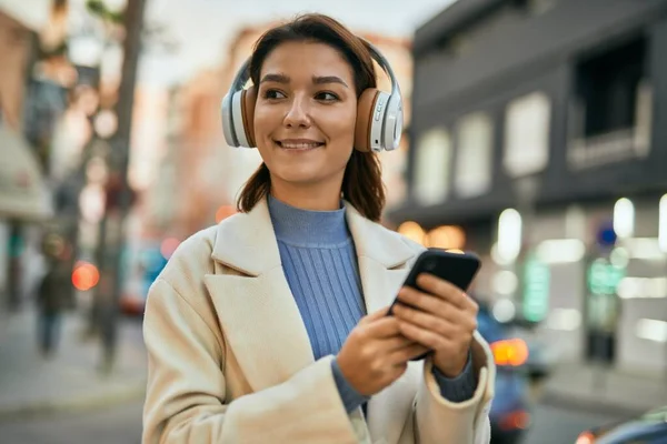
[{"label": "blurred car with red light in the bottom right corner", "polygon": [[628,421],[588,430],[576,444],[667,444],[667,405]]}]

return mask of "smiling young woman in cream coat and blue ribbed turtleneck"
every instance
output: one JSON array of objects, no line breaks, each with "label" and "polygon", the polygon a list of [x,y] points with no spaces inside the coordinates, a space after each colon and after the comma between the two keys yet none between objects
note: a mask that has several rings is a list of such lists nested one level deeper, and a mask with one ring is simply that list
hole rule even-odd
[{"label": "smiling young woman in cream coat and blue ribbed turtleneck", "polygon": [[[367,129],[396,94],[368,102],[372,54],[319,14],[257,42],[255,87],[223,119],[263,163],[240,213],[183,242],[150,290],[145,443],[488,442],[476,304],[430,275],[399,292],[422,248],[377,223]],[[397,293],[419,310],[387,316]]]}]

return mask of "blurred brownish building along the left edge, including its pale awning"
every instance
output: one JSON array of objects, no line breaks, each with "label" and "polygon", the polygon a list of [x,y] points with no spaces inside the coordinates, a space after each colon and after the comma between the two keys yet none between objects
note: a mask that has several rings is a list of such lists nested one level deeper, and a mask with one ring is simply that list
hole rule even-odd
[{"label": "blurred brownish building along the left edge, including its pale awning", "polygon": [[[52,18],[50,0],[0,0],[0,303],[17,307],[31,273],[39,272],[27,223],[52,213],[43,162],[30,141],[29,78],[40,51],[40,33]],[[7,299],[7,303],[4,301]]]}]

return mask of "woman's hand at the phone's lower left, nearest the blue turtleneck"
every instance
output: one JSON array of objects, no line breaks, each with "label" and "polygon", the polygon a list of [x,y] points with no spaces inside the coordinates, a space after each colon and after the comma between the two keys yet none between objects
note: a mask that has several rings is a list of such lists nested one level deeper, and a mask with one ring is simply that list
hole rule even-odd
[{"label": "woman's hand at the phone's lower left, nearest the blue turtleneck", "polygon": [[387,316],[387,310],[362,317],[336,357],[345,379],[365,396],[398,380],[408,367],[408,361],[427,351],[400,333],[399,321]]}]

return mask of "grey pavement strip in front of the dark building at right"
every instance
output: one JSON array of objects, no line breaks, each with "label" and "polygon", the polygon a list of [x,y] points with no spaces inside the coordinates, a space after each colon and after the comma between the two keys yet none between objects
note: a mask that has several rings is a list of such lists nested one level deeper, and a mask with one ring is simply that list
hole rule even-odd
[{"label": "grey pavement strip in front of the dark building at right", "polygon": [[547,403],[633,415],[667,405],[667,375],[564,363],[555,369],[541,392]]}]

